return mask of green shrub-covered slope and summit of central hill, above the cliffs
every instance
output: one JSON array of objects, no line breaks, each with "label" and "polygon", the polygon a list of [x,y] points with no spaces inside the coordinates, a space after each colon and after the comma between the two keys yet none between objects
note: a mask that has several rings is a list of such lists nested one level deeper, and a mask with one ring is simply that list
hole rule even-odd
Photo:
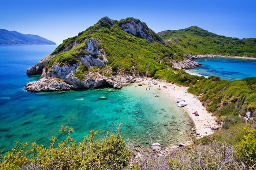
[{"label": "green shrub-covered slope and summit of central hill, above the cliffs", "polygon": [[[122,25],[131,24],[137,31],[125,31]],[[142,27],[141,29],[139,27]],[[141,33],[144,32],[144,33]],[[63,41],[52,55],[61,56],[68,46],[78,46],[69,50],[67,57],[72,57],[71,52],[85,48],[86,39],[94,38],[99,42],[99,49],[106,52],[107,65],[113,71],[119,70],[131,74],[154,75],[157,70],[171,66],[172,60],[183,60],[183,55],[174,55],[172,48],[166,47],[163,40],[146,23],[138,19],[127,18],[121,21],[102,18],[97,24],[78,33],[78,36]],[[51,61],[54,61],[53,58]],[[79,62],[79,56],[76,58]],[[48,62],[47,66],[51,61]]]}]

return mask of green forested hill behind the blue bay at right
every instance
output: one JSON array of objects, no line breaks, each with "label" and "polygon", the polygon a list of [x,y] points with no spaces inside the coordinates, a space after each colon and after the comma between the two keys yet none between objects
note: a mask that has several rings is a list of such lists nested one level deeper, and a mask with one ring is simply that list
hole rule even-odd
[{"label": "green forested hill behind the blue bay at right", "polygon": [[196,26],[166,30],[159,32],[158,35],[165,40],[166,45],[184,54],[256,57],[256,38],[238,39],[219,36]]}]

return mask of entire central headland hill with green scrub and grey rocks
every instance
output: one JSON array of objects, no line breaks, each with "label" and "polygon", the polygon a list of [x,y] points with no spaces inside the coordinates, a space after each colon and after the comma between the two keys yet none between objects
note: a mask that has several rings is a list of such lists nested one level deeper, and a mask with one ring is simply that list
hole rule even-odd
[{"label": "entire central headland hill with green scrub and grey rocks", "polygon": [[30,67],[27,74],[42,74],[42,79],[27,84],[26,89],[121,88],[139,81],[142,75],[152,77],[158,70],[196,66],[198,63],[165,46],[145,22],[105,17],[78,36],[64,40],[50,56]]}]

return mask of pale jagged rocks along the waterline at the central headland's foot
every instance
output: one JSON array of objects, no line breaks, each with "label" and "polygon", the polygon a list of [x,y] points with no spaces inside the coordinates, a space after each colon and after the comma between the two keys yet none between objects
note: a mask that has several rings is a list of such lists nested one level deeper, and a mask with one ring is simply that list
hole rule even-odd
[{"label": "pale jagged rocks along the waterline at the central headland's foot", "polygon": [[[43,71],[41,79],[35,82],[26,84],[28,91],[59,91],[69,89],[83,89],[83,88],[98,88],[102,86],[110,86],[116,89],[122,88],[132,82],[140,82],[142,79],[135,75],[115,75],[106,77],[98,72],[89,73],[83,80],[78,80],[74,71],[76,71],[77,64],[72,66],[55,65],[52,71]],[[45,69],[44,69],[45,70]],[[129,79],[127,79],[127,77]]]}]

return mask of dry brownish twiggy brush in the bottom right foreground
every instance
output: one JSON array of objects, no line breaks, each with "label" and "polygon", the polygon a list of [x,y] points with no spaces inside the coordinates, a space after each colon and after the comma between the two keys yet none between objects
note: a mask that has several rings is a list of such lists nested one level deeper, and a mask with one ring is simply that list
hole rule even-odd
[{"label": "dry brownish twiggy brush in the bottom right foreground", "polygon": [[172,154],[170,169],[242,169],[227,143],[212,141],[209,145],[188,146]]}]

